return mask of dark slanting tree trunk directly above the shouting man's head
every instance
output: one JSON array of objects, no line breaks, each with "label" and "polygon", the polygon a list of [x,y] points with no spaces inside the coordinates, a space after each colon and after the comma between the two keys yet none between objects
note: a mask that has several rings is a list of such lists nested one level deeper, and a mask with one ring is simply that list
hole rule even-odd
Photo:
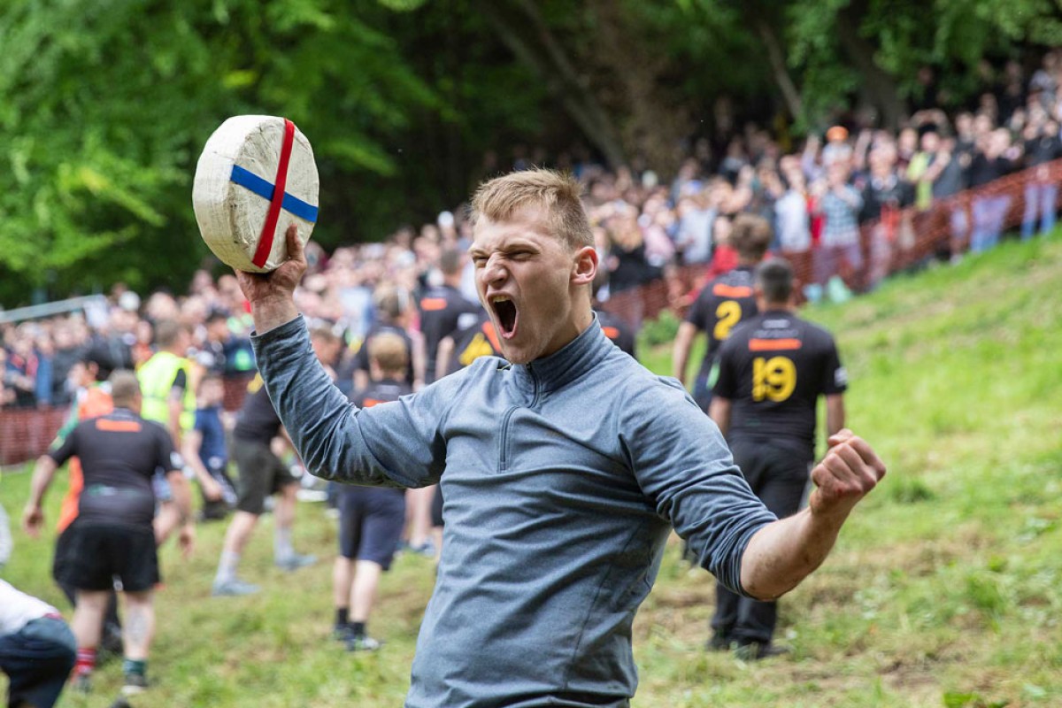
[{"label": "dark slanting tree trunk directly above the shouting man's head", "polygon": [[502,44],[537,73],[550,93],[601,151],[611,168],[626,162],[616,129],[597,99],[579,79],[567,53],[529,0],[482,0],[477,3]]}]

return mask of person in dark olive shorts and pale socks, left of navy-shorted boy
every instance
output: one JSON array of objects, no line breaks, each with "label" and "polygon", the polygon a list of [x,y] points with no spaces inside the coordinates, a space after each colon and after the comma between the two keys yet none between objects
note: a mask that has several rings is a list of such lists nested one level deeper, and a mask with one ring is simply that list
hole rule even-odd
[{"label": "person in dark olive shorts and pale socks, left of navy-shorted boy", "polygon": [[[331,330],[314,329],[311,342],[319,361],[336,360],[341,342]],[[266,511],[266,498],[271,495],[277,495],[273,510],[273,558],[276,566],[290,571],[316,562],[315,556],[296,553],[292,546],[298,478],[273,452],[273,438],[280,436],[286,437],[280,418],[262,386],[261,377],[256,376],[247,384],[247,395],[233,430],[233,456],[239,471],[236,513],[225,532],[221,559],[211,587],[215,595],[252,594],[261,589],[240,580],[237,569],[243,549],[258,524],[258,517]]]}]

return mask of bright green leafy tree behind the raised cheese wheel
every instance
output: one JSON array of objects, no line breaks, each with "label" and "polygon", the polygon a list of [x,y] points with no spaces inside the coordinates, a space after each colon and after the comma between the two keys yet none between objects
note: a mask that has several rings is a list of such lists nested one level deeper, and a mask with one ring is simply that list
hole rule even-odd
[{"label": "bright green leafy tree behind the raised cheese wheel", "polygon": [[310,136],[326,176],[318,234],[344,238],[350,182],[393,174],[388,138],[436,102],[375,29],[392,13],[340,0],[10,4],[2,301],[45,283],[183,290],[206,255],[190,208],[195,159],[232,115],[286,115]]}]

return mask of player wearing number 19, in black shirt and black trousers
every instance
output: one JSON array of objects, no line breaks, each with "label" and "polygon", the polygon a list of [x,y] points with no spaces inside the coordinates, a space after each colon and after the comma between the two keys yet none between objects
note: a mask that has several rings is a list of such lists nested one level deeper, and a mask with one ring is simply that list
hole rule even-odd
[{"label": "player wearing number 19, in black shirt and black trousers", "polygon": [[[819,396],[826,397],[826,431],[833,437],[844,427],[847,377],[834,338],[793,313],[789,263],[760,264],[755,291],[760,314],[737,327],[719,349],[709,415],[749,486],[785,518],[800,508],[808,483]],[[710,647],[736,644],[749,658],[784,651],[771,643],[776,603],[741,598],[722,585],[716,597]]]}]

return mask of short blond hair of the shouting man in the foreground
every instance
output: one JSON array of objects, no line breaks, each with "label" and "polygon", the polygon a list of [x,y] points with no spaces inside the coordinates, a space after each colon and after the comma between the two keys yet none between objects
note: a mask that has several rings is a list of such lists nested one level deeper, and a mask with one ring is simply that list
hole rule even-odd
[{"label": "short blond hair of the shouting man in the foreground", "polygon": [[575,251],[594,245],[594,234],[580,195],[582,185],[554,170],[523,170],[484,182],[472,197],[472,223],[482,218],[507,222],[543,209],[550,232]]}]

